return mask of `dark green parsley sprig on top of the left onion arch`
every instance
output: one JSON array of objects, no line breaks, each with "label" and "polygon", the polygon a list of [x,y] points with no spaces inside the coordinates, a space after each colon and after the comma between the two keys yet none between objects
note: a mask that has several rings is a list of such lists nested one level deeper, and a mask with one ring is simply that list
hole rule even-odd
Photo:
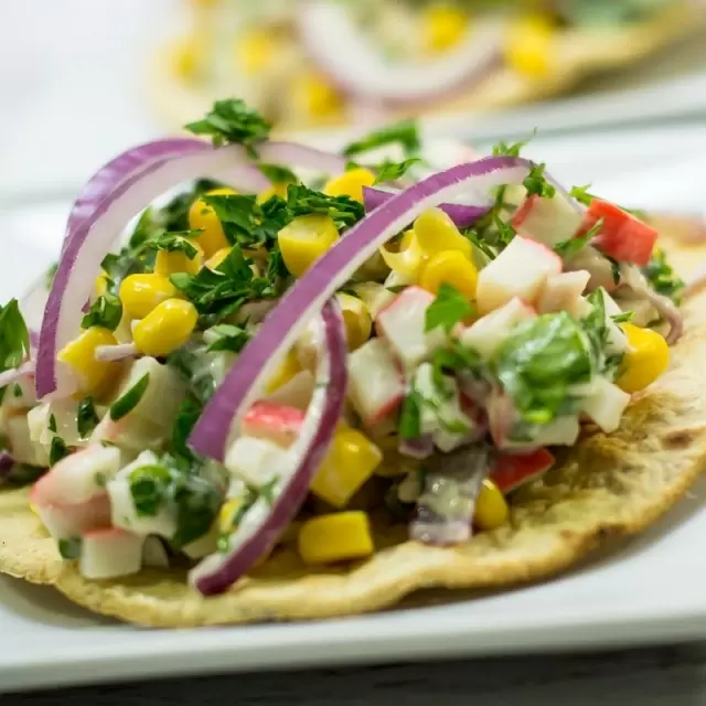
[{"label": "dark green parsley sprig on top of the left onion arch", "polygon": [[208,135],[216,147],[226,143],[244,145],[252,156],[255,146],[269,137],[271,129],[265,118],[240,98],[216,100],[202,120],[185,128],[194,135]]}]

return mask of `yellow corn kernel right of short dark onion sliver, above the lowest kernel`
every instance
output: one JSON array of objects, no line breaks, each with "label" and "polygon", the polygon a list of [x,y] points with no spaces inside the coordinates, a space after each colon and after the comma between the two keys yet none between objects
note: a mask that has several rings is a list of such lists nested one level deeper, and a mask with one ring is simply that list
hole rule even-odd
[{"label": "yellow corn kernel right of short dark onion sliver, above the lowest kernel", "polygon": [[330,505],[345,507],[383,460],[383,452],[356,429],[339,429],[311,492]]}]

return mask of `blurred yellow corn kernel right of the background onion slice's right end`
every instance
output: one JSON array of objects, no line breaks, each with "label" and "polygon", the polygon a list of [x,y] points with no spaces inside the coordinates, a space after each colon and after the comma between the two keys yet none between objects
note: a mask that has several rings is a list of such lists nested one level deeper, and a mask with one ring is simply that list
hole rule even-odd
[{"label": "blurred yellow corn kernel right of the background onion slice's right end", "polygon": [[546,76],[556,62],[555,36],[554,24],[547,15],[533,14],[516,20],[504,44],[507,65],[526,76]]}]

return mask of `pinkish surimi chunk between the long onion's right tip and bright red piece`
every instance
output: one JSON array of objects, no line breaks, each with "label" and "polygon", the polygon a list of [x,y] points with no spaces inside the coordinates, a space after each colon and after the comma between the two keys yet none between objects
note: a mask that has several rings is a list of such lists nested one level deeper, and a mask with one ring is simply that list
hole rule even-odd
[{"label": "pinkish surimi chunk between the long onion's right tip and bright red piece", "polygon": [[584,222],[584,214],[560,193],[553,199],[532,195],[515,213],[512,225],[525,238],[549,247],[573,238]]}]

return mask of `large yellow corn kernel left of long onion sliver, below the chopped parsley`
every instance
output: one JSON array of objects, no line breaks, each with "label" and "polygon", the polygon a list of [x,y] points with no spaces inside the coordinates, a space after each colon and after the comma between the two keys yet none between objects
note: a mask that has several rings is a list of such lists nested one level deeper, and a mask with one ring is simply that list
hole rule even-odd
[{"label": "large yellow corn kernel left of long onion sliver, below the chopped parsley", "polygon": [[333,218],[320,213],[298,216],[277,234],[285,265],[295,277],[301,277],[338,238]]}]

